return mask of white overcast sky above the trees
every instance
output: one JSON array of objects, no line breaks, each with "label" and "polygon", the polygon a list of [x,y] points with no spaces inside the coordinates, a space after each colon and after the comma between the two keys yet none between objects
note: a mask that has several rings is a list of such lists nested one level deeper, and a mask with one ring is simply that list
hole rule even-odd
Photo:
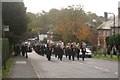
[{"label": "white overcast sky above the trees", "polygon": [[91,11],[99,16],[104,12],[118,14],[118,2],[120,0],[24,0],[27,12],[37,13],[42,10],[48,12],[52,8],[61,9],[68,5],[83,5],[83,9]]}]

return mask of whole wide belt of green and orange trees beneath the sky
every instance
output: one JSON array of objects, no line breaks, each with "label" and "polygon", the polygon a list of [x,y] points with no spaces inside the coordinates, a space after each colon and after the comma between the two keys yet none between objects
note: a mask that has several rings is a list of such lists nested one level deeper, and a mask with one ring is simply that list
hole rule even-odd
[{"label": "whole wide belt of green and orange trees beneath the sky", "polygon": [[95,13],[85,13],[81,5],[72,5],[61,10],[53,8],[49,12],[42,11],[42,13],[28,13],[27,15],[32,17],[28,23],[28,32],[30,31],[31,35],[37,35],[38,30],[47,29],[61,36],[66,43],[84,40],[92,43],[93,38],[97,43],[94,30],[102,20]]}]

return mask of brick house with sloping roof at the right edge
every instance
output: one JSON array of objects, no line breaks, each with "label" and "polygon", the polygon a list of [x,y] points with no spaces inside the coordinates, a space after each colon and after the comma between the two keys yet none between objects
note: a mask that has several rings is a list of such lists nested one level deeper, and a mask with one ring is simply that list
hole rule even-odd
[{"label": "brick house with sloping roof at the right edge", "polygon": [[[98,28],[98,45],[106,45],[105,39],[106,37],[113,35],[113,34],[119,34],[120,33],[120,26],[119,26],[119,19],[118,16],[115,17],[115,27],[114,27],[114,21],[113,17],[110,17],[109,19],[105,20]],[[102,37],[103,40],[100,40]]]}]

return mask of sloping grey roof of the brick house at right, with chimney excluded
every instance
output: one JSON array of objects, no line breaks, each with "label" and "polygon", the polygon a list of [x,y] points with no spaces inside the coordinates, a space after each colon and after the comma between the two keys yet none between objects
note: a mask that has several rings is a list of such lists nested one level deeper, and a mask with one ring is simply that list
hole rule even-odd
[{"label": "sloping grey roof of the brick house at right, with chimney excluded", "polygon": [[[111,29],[113,27],[113,17],[110,17],[107,21],[104,21],[97,29]],[[115,26],[118,27],[118,16],[115,17]]]}]

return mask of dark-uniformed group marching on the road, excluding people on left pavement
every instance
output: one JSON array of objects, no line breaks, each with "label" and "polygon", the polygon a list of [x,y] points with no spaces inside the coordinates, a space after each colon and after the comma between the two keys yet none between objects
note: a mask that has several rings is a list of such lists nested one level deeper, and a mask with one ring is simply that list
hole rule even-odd
[{"label": "dark-uniformed group marching on the road, excluding people on left pavement", "polygon": [[63,55],[68,57],[69,60],[75,60],[75,57],[79,60],[80,58],[80,49],[82,52],[82,60],[84,61],[85,58],[85,52],[86,52],[86,44],[83,42],[82,45],[79,45],[79,43],[68,43],[66,46],[64,46],[63,42],[59,42],[57,44],[51,45],[51,44],[37,44],[34,46],[34,50],[36,53],[44,56],[46,55],[48,61],[51,60],[51,56],[54,55],[55,58],[58,58],[58,60],[63,60]]}]

